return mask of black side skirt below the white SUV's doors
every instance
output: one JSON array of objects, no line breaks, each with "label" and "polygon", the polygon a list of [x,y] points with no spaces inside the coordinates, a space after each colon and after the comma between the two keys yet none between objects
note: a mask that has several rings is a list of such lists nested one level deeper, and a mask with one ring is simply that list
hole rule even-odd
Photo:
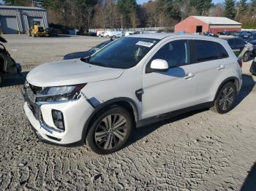
[{"label": "black side skirt below the white SUV's doors", "polygon": [[144,120],[138,121],[137,124],[136,124],[136,128],[141,128],[145,125],[150,125],[154,122],[167,120],[167,119],[169,119],[171,117],[175,117],[179,114],[192,112],[192,111],[195,111],[195,110],[198,110],[198,109],[210,108],[213,105],[214,105],[214,102],[211,101],[211,102],[206,102],[206,103],[203,103],[203,104],[198,104],[198,105],[195,105],[195,106],[189,106],[189,107],[184,108],[184,109],[178,109],[178,110],[173,111],[173,112],[167,112],[165,114],[159,114],[159,115],[154,116],[154,117],[148,117]]}]

